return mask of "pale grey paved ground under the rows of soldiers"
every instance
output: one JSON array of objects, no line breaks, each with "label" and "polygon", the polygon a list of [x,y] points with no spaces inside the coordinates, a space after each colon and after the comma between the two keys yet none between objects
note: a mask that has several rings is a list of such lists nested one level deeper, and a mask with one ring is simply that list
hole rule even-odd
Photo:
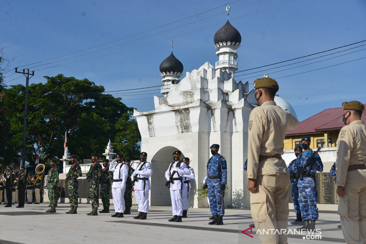
[{"label": "pale grey paved ground under the rows of soldiers", "polygon": [[[209,225],[208,208],[191,208],[183,222],[168,222],[169,206],[153,206],[146,220],[136,220],[137,206],[124,218],[112,218],[113,213],[88,216],[90,204],[80,204],[78,214],[65,214],[66,203],[57,207],[57,213],[46,213],[48,203],[26,204],[25,208],[0,205],[0,243],[261,243],[253,229],[252,237],[243,234],[252,223],[250,210],[225,209],[224,225]],[[111,205],[113,208],[113,205]],[[99,209],[100,210],[100,209]],[[295,218],[290,212],[290,221]],[[334,212],[319,213],[316,228],[321,229],[321,240],[303,239],[289,235],[289,243],[344,243]],[[290,229],[298,226],[289,225]],[[250,234],[250,230],[247,231]]]}]

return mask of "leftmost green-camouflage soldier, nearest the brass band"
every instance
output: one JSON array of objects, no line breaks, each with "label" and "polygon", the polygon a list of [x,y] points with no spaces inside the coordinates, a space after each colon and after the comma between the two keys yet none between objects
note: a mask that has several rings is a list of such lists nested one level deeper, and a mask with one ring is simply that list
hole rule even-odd
[{"label": "leftmost green-camouflage soldier, nearest the brass band", "polygon": [[59,169],[56,167],[57,160],[51,159],[51,169],[48,171],[48,199],[50,200],[50,209],[46,212],[56,212],[57,204],[57,187],[59,187]]}]

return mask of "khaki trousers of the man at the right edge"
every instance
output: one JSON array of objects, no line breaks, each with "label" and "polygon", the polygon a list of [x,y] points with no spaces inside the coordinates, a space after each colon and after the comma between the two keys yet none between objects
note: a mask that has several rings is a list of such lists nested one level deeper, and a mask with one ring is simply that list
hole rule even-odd
[{"label": "khaki trousers of the man at the right edge", "polygon": [[338,214],[346,243],[366,243],[366,169],[347,172]]}]

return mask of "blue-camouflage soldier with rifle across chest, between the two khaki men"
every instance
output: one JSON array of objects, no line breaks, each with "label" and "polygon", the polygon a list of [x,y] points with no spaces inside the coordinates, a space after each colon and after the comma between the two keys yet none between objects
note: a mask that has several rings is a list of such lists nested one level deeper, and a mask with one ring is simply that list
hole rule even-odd
[{"label": "blue-camouflage soldier with rifle across chest, between the two khaki men", "polygon": [[301,139],[301,147],[304,149],[302,153],[296,158],[296,162],[293,164],[292,171],[295,175],[299,175],[297,187],[299,188],[299,204],[301,210],[301,217],[304,222],[304,226],[300,229],[315,229],[315,220],[318,219],[319,213],[316,207],[317,202],[317,190],[315,173],[316,171],[323,171],[323,163],[320,156],[315,155],[313,160],[310,160],[308,166],[304,169],[304,165],[309,160],[311,155],[315,152],[310,150],[310,137],[305,136]]}]

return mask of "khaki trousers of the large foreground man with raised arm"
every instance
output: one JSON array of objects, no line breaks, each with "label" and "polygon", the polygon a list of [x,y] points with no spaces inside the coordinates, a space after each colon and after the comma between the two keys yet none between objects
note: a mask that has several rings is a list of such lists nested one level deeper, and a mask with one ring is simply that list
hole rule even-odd
[{"label": "khaki trousers of the large foreground man with raised arm", "polygon": [[284,173],[257,177],[257,192],[250,193],[250,207],[262,243],[287,243],[287,234],[275,229],[287,230],[289,185],[290,177]]}]

